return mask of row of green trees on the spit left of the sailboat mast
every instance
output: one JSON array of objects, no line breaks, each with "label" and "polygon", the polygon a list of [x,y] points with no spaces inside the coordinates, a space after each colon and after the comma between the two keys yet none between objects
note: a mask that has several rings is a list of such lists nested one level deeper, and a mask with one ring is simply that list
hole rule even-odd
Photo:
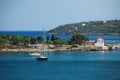
[{"label": "row of green trees on the spit left of the sailboat mast", "polygon": [[27,48],[29,44],[41,43],[43,40],[42,36],[31,38],[29,36],[2,34],[0,35],[0,49]]}]

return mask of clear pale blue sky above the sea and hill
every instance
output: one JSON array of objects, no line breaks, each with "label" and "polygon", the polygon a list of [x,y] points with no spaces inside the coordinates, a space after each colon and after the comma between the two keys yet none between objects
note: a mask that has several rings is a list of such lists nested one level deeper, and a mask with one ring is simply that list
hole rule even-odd
[{"label": "clear pale blue sky above the sea and hill", "polygon": [[51,30],[115,19],[120,19],[120,0],[0,0],[0,31]]}]

